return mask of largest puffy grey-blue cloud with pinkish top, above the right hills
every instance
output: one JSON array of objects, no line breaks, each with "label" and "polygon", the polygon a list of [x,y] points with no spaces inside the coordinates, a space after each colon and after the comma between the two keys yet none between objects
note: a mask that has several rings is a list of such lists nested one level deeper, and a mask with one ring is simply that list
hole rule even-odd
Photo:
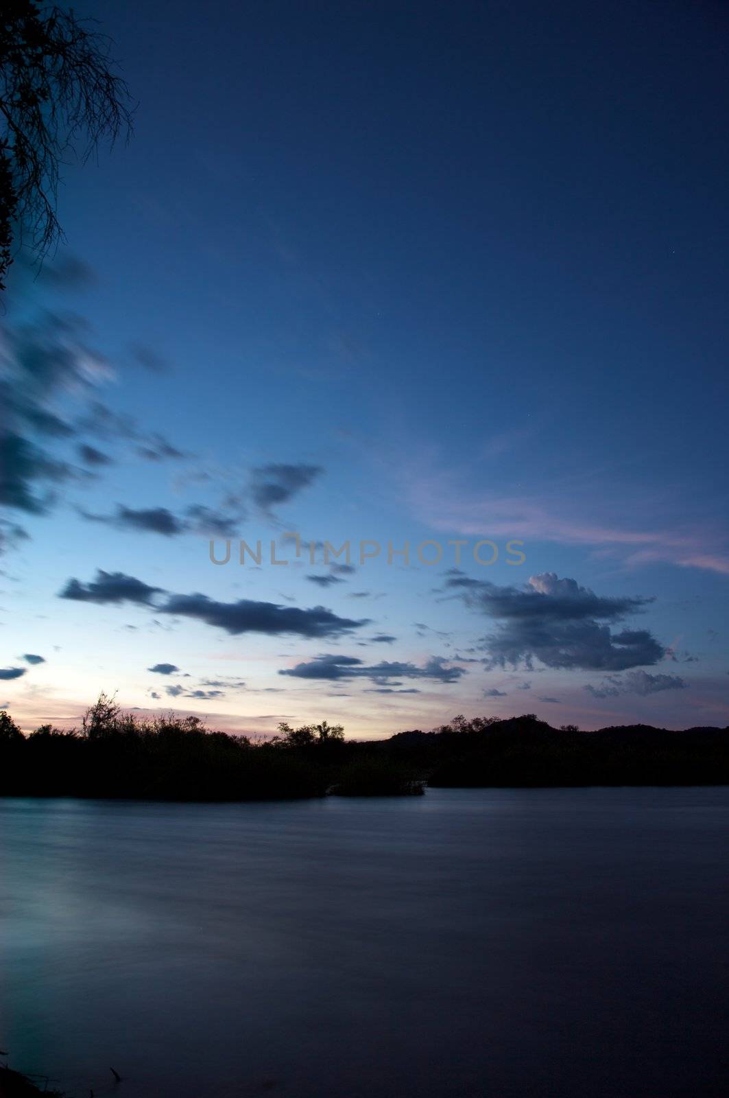
[{"label": "largest puffy grey-blue cloud with pinkish top, above the right hills", "polygon": [[553,572],[532,575],[524,587],[500,587],[455,569],[446,589],[498,623],[496,631],[482,641],[489,668],[530,669],[538,659],[549,668],[625,671],[658,663],[665,654],[647,629],[610,629],[652,598],[602,597],[575,580],[559,580]]}]

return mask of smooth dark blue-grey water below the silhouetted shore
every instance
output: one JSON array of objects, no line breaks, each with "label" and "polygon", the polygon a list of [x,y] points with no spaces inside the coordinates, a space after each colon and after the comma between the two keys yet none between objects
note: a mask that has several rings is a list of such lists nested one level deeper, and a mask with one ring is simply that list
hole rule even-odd
[{"label": "smooth dark blue-grey water below the silhouetted shore", "polygon": [[729,789],[0,800],[0,1046],[87,1098],[726,1096]]}]

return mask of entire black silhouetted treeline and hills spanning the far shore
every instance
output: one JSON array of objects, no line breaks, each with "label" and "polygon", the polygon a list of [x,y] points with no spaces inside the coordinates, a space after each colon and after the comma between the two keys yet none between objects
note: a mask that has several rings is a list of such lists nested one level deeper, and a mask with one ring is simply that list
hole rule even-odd
[{"label": "entire black silhouetted treeline and hills spanning the far shore", "polygon": [[456,717],[426,732],[345,740],[341,726],[282,724],[271,740],[198,717],[141,719],[101,695],[78,729],[23,735],[0,713],[0,795],[248,800],[405,795],[430,786],[729,784],[729,728],[581,731],[534,714]]}]

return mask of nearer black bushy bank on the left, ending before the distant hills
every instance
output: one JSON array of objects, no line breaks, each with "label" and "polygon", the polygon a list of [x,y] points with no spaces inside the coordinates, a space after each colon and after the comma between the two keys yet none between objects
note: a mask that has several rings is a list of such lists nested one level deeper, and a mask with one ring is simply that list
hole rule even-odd
[{"label": "nearer black bushy bank on the left, ending before the distant hills", "polygon": [[272,740],[209,731],[199,717],[142,719],[101,695],[78,729],[23,735],[0,713],[0,795],[257,800],[422,793],[405,762],[346,741],[341,726],[279,726]]}]

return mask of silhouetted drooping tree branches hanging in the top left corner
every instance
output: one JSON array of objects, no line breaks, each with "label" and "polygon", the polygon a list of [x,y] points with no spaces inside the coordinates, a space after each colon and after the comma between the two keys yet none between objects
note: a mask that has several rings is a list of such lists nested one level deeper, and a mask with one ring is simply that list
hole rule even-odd
[{"label": "silhouetted drooping tree branches hanging in the top left corner", "polygon": [[132,108],[110,40],[72,11],[3,0],[0,14],[0,289],[15,226],[40,259],[61,237],[59,167],[131,132]]}]

